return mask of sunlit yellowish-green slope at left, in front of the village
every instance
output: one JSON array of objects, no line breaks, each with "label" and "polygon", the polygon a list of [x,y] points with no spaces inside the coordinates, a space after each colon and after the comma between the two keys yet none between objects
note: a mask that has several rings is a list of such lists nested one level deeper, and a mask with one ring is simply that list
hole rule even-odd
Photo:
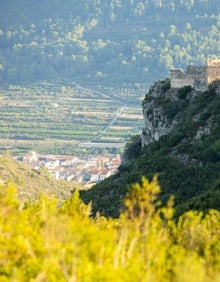
[{"label": "sunlit yellowish-green slope at left, in front of the village", "polygon": [[63,201],[71,196],[75,188],[81,188],[73,182],[55,181],[46,169],[32,170],[7,154],[0,156],[0,183],[14,183],[18,199],[23,204],[36,201],[42,193]]}]

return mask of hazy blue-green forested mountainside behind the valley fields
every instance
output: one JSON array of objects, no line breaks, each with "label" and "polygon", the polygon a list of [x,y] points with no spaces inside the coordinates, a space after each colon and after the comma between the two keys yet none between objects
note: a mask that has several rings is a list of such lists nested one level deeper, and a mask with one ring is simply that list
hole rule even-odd
[{"label": "hazy blue-green forested mountainside behind the valley fields", "polygon": [[219,1],[1,1],[0,82],[149,82],[219,54]]}]

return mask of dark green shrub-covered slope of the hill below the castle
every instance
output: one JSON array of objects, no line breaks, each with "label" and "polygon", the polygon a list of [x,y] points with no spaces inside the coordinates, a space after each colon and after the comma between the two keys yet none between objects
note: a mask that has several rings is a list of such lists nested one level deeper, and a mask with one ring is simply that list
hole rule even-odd
[{"label": "dark green shrub-covered slope of the hill below the castle", "polygon": [[[144,148],[140,136],[127,142],[127,161],[118,173],[81,193],[86,203],[92,201],[94,213],[118,217],[129,187],[142,176],[152,179],[155,173],[162,189],[160,199],[166,202],[170,195],[175,197],[176,216],[192,209],[220,209],[219,89],[220,82],[216,81],[195,98],[192,89],[186,87],[179,90],[178,100],[158,100],[164,113],[178,121],[177,127]],[[197,132],[209,127],[209,133],[196,138]]]}]

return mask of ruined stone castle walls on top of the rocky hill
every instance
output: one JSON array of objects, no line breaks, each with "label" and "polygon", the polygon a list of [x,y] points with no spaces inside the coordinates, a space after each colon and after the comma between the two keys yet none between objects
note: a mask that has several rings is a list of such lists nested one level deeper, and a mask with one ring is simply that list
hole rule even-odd
[{"label": "ruined stone castle walls on top of the rocky hill", "polygon": [[188,66],[186,73],[182,69],[170,70],[171,88],[190,85],[196,90],[205,91],[216,79],[220,79],[220,58],[209,58],[206,66]]}]

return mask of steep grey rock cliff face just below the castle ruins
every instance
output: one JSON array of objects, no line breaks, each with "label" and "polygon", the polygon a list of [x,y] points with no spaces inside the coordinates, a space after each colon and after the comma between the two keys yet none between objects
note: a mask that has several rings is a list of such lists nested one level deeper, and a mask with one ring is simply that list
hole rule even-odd
[{"label": "steep grey rock cliff face just below the castle ruins", "polygon": [[[190,95],[187,95],[189,94]],[[160,80],[149,89],[142,103],[145,126],[142,130],[142,146],[158,141],[163,135],[175,129],[178,124],[177,112],[185,101],[199,94],[190,86],[182,91],[170,88],[170,79]]]}]

